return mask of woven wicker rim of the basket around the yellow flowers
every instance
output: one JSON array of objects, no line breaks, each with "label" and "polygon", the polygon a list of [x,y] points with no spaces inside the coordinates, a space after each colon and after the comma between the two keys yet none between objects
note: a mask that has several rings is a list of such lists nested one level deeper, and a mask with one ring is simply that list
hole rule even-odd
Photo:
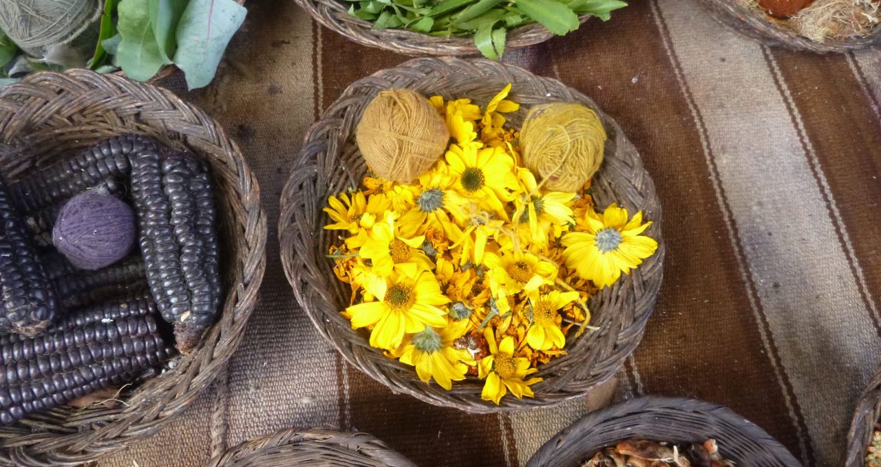
[{"label": "woven wicker rim of the basket around the yellow flowers", "polygon": [[[323,179],[319,179],[317,174],[316,167],[310,165],[313,161],[313,158],[323,158],[326,157],[324,151],[327,150],[330,153],[328,148],[332,148],[333,151],[337,151],[338,145],[343,144],[343,140],[340,139],[341,136],[338,135],[338,129],[334,125],[338,125],[343,123],[344,121],[349,121],[353,117],[346,113],[345,115],[337,115],[339,112],[345,110],[345,108],[349,107],[353,104],[353,102],[364,101],[359,95],[354,95],[357,93],[357,90],[360,87],[365,87],[367,89],[379,89],[377,86],[382,86],[386,83],[394,84],[393,87],[407,87],[409,82],[406,82],[408,78],[437,78],[436,73],[429,76],[428,73],[431,73],[432,70],[435,70],[433,67],[444,68],[444,69],[455,69],[456,71],[463,70],[481,70],[487,73],[493,73],[494,75],[498,75],[500,77],[505,78],[511,82],[517,82],[516,78],[524,79],[524,77],[528,77],[529,79],[534,79],[541,82],[543,85],[547,85],[550,87],[558,87],[559,89],[564,89],[567,95],[574,96],[577,99],[583,99],[582,102],[589,102],[591,107],[596,109],[596,104],[593,104],[592,101],[587,98],[582,93],[575,91],[572,88],[560,83],[558,80],[552,78],[541,78],[536,77],[528,70],[523,70],[522,68],[516,67],[510,64],[497,63],[486,59],[477,59],[477,60],[465,60],[462,58],[455,57],[442,57],[442,58],[417,58],[412,59],[406,63],[398,65],[396,67],[392,67],[386,70],[380,70],[373,75],[361,78],[358,81],[355,81],[350,85],[343,95],[337,100],[336,103],[331,105],[322,117],[313,124],[310,130],[307,132],[306,142],[298,153],[294,166],[292,167],[291,174],[289,175],[288,181],[285,183],[285,188],[282,190],[282,197],[280,200],[280,216],[279,216],[279,224],[278,224],[278,235],[279,235],[279,244],[280,244],[280,255],[282,259],[283,266],[285,268],[285,276],[288,279],[288,282],[292,285],[294,290],[294,295],[300,304],[300,308],[302,308],[303,313],[307,315],[309,320],[315,325],[316,330],[322,335],[322,337],[330,343],[334,348],[337,349],[337,352],[340,352],[344,359],[351,364],[353,367],[359,368],[362,372],[368,374],[377,382],[381,382],[383,385],[391,389],[394,393],[407,393],[413,397],[417,397],[418,399],[427,402],[429,404],[441,405],[441,406],[455,406],[458,409],[463,411],[470,411],[475,413],[488,413],[488,412],[497,412],[497,411],[519,411],[524,409],[529,409],[537,406],[547,407],[556,404],[562,404],[567,400],[571,400],[576,397],[581,397],[589,392],[590,389],[594,389],[603,382],[611,379],[615,371],[609,371],[607,368],[603,368],[602,371],[597,369],[597,363],[601,361],[599,357],[592,357],[594,360],[591,360],[588,368],[594,371],[595,373],[591,373],[589,388],[587,389],[577,389],[577,390],[546,390],[544,392],[539,391],[538,389],[542,389],[543,387],[550,387],[550,381],[554,381],[559,379],[559,377],[554,377],[550,379],[545,379],[544,382],[537,383],[533,388],[536,389],[537,395],[536,398],[523,398],[523,399],[515,399],[514,397],[505,397],[502,399],[502,404],[496,405],[492,404],[492,402],[483,401],[479,399],[479,395],[477,396],[477,400],[474,400],[473,395],[470,394],[470,389],[464,391],[457,391],[454,386],[451,391],[440,391],[440,387],[435,387],[435,384],[416,384],[415,387],[411,388],[401,382],[396,381],[396,378],[389,374],[395,374],[397,371],[403,371],[408,374],[412,374],[415,377],[415,371],[412,370],[411,367],[404,366],[402,363],[391,360],[388,358],[378,359],[378,363],[375,367],[368,367],[368,365],[373,362],[366,362],[359,358],[358,355],[355,355],[355,350],[352,349],[353,346],[367,347],[367,350],[364,352],[368,352],[370,354],[379,354],[381,352],[378,350],[369,347],[366,345],[366,339],[361,337],[356,331],[352,331],[351,329],[347,332],[351,334],[347,334],[344,337],[337,337],[334,334],[334,331],[337,329],[334,328],[335,323],[332,323],[328,318],[328,312],[322,311],[319,309],[323,306],[323,304],[327,303],[328,307],[337,308],[337,305],[334,305],[334,299],[330,296],[328,290],[317,290],[317,287],[311,287],[307,285],[305,279],[302,277],[307,274],[320,274],[320,266],[318,266],[317,261],[310,261],[310,257],[315,255],[315,251],[310,251],[310,249],[314,250],[315,245],[300,245],[298,243],[298,229],[303,235],[306,234],[305,230],[302,230],[300,226],[297,226],[298,223],[306,224],[311,228],[318,230],[320,232],[324,232],[322,230],[322,220],[305,220],[305,219],[293,219],[294,213],[293,210],[297,209],[298,203],[300,202],[300,197],[307,196],[305,195],[308,191],[308,196],[322,196],[326,198],[329,194],[327,192],[321,191],[320,193],[315,193],[316,188],[309,186],[308,189],[300,189],[298,188],[298,183],[303,182],[304,177],[313,177],[319,182],[323,183]],[[423,70],[425,68],[426,70]],[[439,91],[440,92],[440,91]],[[515,84],[515,93],[516,93],[516,84]],[[542,94],[544,96],[544,93]],[[550,94],[548,94],[550,95]],[[601,115],[603,119],[603,123],[607,126],[607,128],[611,128],[615,131],[615,134],[618,135],[616,142],[618,145],[621,145],[622,142],[625,145],[629,145],[629,142],[626,140],[626,137],[623,135],[623,130],[620,130],[617,123],[611,120],[607,115],[604,115],[602,111],[597,110],[598,115]],[[351,123],[351,122],[350,122]],[[329,130],[330,129],[330,130]],[[325,144],[326,143],[326,144]],[[632,148],[632,145],[630,146]],[[635,149],[632,148],[633,159],[639,159],[638,153],[635,152]],[[621,150],[621,152],[625,152],[626,149]],[[334,152],[335,157],[338,155],[338,152]],[[333,163],[337,163],[334,161]],[[645,282],[640,283],[640,292],[642,295],[637,295],[633,300],[634,303],[627,303],[623,306],[633,307],[633,322],[625,323],[626,326],[624,329],[620,330],[618,334],[611,337],[611,334],[608,334],[610,337],[609,341],[603,341],[604,344],[611,345],[614,347],[615,351],[611,352],[611,356],[606,358],[606,360],[611,361],[609,364],[616,369],[623,365],[623,362],[627,355],[631,354],[633,350],[635,350],[636,346],[639,344],[642,334],[645,330],[645,324],[648,321],[649,316],[651,315],[654,307],[655,300],[657,297],[657,291],[660,288],[661,281],[663,279],[663,256],[664,256],[664,242],[663,242],[663,234],[660,229],[661,222],[661,208],[659,205],[659,201],[657,199],[657,194],[654,189],[654,183],[651,182],[650,177],[645,169],[641,166],[641,161],[637,160],[636,165],[639,166],[637,169],[639,170],[639,174],[644,175],[641,183],[646,193],[644,194],[647,201],[646,204],[651,206],[656,206],[653,213],[651,214],[652,220],[655,221],[655,230],[652,231],[652,235],[656,241],[658,241],[658,249],[655,253],[655,256],[648,258],[646,263],[643,263],[641,268],[644,268],[647,272],[646,274],[654,274],[650,278],[652,280],[646,280]],[[605,165],[603,166],[605,167]],[[600,173],[603,173],[603,168],[601,168]],[[348,173],[348,177],[352,179],[352,174]],[[311,179],[310,179],[311,180]],[[351,180],[352,186],[357,186],[359,184],[359,180]],[[306,183],[306,182],[304,182]],[[322,185],[323,186],[323,185]],[[322,199],[321,204],[317,207],[319,217],[323,216],[321,212],[321,206],[324,203],[324,199]],[[323,219],[323,218],[322,218]],[[321,225],[320,225],[321,224]],[[315,237],[314,233],[308,233],[310,237]],[[319,247],[321,248],[321,247]],[[323,257],[322,257],[323,259]],[[320,261],[320,260],[318,260]],[[326,260],[325,260],[326,261]],[[656,271],[655,271],[656,270]],[[639,272],[634,272],[631,276],[622,276],[622,278],[633,278],[635,276],[640,276]],[[641,276],[640,276],[641,278]],[[620,282],[629,281],[630,279],[622,279]],[[635,280],[635,279],[634,279]],[[631,291],[630,288],[632,284],[628,282],[628,285],[621,285],[621,289],[626,289],[627,291]],[[611,288],[603,289],[603,291],[608,291],[608,294],[612,294],[611,290],[618,290],[618,285],[615,285]],[[611,289],[611,290],[610,290]],[[605,293],[605,292],[604,292]],[[310,294],[316,294],[315,297]],[[634,295],[637,292],[633,292]],[[645,303],[637,303],[638,299],[645,298]],[[615,300],[611,298],[609,300]],[[593,307],[593,302],[591,302],[591,308],[596,311],[596,308]],[[330,308],[328,308],[330,309]],[[338,308],[337,308],[338,309]],[[338,311],[337,311],[338,315]],[[595,314],[596,316],[596,314]],[[595,317],[596,319],[596,317]],[[603,334],[602,332],[600,334]],[[354,337],[350,337],[354,336]],[[587,338],[588,334],[581,336],[581,338]],[[577,342],[577,341],[573,341]],[[610,344],[611,342],[611,344]],[[566,347],[569,349],[569,345]],[[571,349],[570,349],[571,350]],[[569,356],[561,357],[552,361],[551,363],[544,365],[541,367],[540,371],[543,369],[548,369],[553,367],[555,364],[563,365],[563,361],[566,361]],[[557,361],[559,360],[559,361]],[[581,362],[582,360],[568,360],[569,362]],[[603,360],[603,364],[607,363]],[[369,368],[369,369],[368,369]],[[579,368],[580,370],[582,368]],[[584,370],[585,372],[587,370]],[[376,373],[374,373],[376,372]],[[573,372],[573,374],[578,374],[578,372]],[[562,378],[559,381],[564,382],[566,384],[570,384],[570,378]],[[577,383],[576,383],[577,384]],[[430,388],[430,389],[429,389]],[[434,391],[434,392],[433,392]],[[539,392],[541,392],[543,398],[539,398]]]}]

